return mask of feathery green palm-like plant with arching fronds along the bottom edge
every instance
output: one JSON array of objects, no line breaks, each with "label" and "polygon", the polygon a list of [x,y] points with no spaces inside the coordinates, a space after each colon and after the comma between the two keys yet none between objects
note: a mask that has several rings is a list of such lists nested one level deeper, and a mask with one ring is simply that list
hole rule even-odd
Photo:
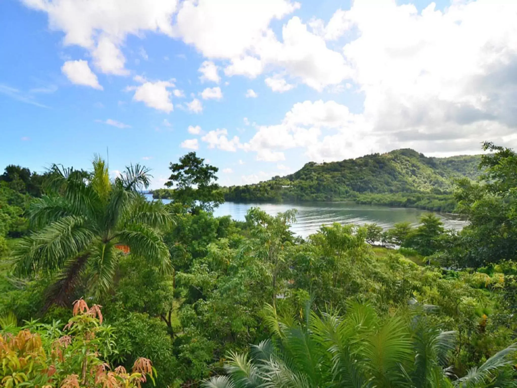
[{"label": "feathery green palm-like plant with arching fronds along the bottom edge", "polygon": [[467,376],[449,378],[455,333],[430,327],[422,315],[379,317],[371,305],[352,303],[344,317],[310,312],[300,324],[268,310],[273,337],[249,354],[231,353],[227,376],[206,381],[205,388],[484,387],[517,350],[512,345]]}]

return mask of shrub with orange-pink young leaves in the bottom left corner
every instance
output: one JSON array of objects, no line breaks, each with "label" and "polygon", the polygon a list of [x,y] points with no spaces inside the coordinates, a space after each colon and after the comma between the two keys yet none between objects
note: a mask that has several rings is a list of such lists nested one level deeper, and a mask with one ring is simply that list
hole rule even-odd
[{"label": "shrub with orange-pink young leaves in the bottom left corner", "polygon": [[113,328],[102,325],[100,306],[88,307],[78,300],[64,331],[52,325],[31,322],[19,330],[16,321],[2,322],[0,331],[0,383],[13,388],[136,388],[156,370],[143,357],[131,372],[123,366],[112,370],[107,357],[115,345]]}]

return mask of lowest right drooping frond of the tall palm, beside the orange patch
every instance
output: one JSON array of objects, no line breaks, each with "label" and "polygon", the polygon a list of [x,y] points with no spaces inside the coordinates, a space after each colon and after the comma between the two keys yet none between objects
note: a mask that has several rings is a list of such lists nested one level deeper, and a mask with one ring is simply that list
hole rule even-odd
[{"label": "lowest right drooping frond of the tall palm, beside the orange patch", "polygon": [[160,234],[146,225],[133,224],[116,233],[115,238],[128,245],[132,255],[144,257],[163,271],[171,269],[171,255]]}]

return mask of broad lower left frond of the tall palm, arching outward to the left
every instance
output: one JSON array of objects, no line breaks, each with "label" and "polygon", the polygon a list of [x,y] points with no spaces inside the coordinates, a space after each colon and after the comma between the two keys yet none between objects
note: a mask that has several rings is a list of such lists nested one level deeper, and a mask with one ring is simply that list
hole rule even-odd
[{"label": "broad lower left frond of the tall palm, arching outward to the left", "polygon": [[93,238],[83,217],[60,218],[22,238],[14,248],[14,269],[24,276],[39,270],[54,272],[87,250]]}]

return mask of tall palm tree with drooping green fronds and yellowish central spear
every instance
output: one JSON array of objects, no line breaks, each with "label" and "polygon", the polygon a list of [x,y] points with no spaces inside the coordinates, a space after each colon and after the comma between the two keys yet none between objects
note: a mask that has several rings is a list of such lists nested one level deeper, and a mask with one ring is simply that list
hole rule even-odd
[{"label": "tall palm tree with drooping green fronds and yellowish central spear", "polygon": [[35,231],[14,251],[20,275],[58,274],[49,290],[50,303],[70,304],[80,280],[99,299],[113,284],[117,244],[169,269],[160,229],[171,217],[161,202],[147,202],[138,191],[149,186],[148,169],[131,165],[110,180],[107,164],[96,156],[91,172],[57,165],[50,170],[50,195],[34,200],[28,211]]}]

